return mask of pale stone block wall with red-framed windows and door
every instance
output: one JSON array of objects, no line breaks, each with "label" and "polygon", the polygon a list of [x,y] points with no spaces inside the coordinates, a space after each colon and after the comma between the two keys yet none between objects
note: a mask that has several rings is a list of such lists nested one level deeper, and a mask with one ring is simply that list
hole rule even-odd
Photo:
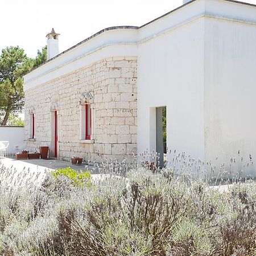
[{"label": "pale stone block wall with red-framed windows and door", "polygon": [[[93,92],[95,135],[80,140],[80,95]],[[58,158],[80,156],[122,161],[137,154],[137,57],[110,57],[25,92],[26,147],[51,147],[51,105],[57,102]],[[29,110],[35,114],[35,139],[29,137]],[[52,148],[51,148],[52,150]]]}]

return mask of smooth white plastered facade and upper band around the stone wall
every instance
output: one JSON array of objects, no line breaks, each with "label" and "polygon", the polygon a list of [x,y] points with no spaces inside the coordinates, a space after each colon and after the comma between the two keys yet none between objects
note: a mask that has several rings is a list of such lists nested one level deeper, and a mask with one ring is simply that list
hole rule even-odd
[{"label": "smooth white plastered facade and upper band around the stone wall", "polygon": [[138,151],[155,150],[155,111],[166,106],[168,148],[220,163],[238,150],[256,157],[255,46],[256,6],[196,0],[139,28],[101,31],[26,75],[24,90],[137,56]]}]

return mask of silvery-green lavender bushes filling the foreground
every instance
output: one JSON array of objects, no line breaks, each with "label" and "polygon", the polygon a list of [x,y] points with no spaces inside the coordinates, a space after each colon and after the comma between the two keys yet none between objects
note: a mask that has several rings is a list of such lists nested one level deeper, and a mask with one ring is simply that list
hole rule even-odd
[{"label": "silvery-green lavender bushes filling the foreground", "polygon": [[255,181],[212,187],[204,163],[180,159],[163,170],[148,156],[143,167],[108,160],[84,185],[61,174],[39,187],[1,181],[0,255],[256,255]]}]

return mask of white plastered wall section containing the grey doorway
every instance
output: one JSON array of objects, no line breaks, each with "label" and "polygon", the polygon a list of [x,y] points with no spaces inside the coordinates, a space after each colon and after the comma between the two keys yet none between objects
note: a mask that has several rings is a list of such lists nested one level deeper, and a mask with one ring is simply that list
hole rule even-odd
[{"label": "white plastered wall section containing the grey doorway", "polygon": [[167,107],[167,147],[204,159],[204,19],[139,46],[138,152],[155,150],[155,108]]}]

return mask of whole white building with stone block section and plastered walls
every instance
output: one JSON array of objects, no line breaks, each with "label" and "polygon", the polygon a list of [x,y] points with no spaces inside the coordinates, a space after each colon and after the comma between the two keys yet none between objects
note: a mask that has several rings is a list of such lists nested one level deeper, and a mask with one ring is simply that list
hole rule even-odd
[{"label": "whole white building with stone block section and plastered walls", "polygon": [[24,76],[27,147],[91,160],[161,151],[156,113],[166,106],[168,148],[220,162],[256,156],[255,69],[248,3],[195,0],[142,27],[106,28]]}]

